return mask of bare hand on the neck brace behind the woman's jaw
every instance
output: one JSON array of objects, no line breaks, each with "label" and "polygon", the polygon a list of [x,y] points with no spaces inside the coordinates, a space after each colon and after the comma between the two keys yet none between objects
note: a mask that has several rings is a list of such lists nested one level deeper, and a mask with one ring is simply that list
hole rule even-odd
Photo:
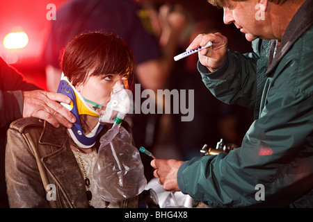
[{"label": "bare hand on the neck brace behind the woman's jaw", "polygon": [[70,104],[71,99],[68,96],[44,90],[24,91],[23,96],[23,117],[37,117],[45,119],[54,127],[61,123],[67,128],[72,128],[72,123],[76,121],[74,114],[60,104]]}]

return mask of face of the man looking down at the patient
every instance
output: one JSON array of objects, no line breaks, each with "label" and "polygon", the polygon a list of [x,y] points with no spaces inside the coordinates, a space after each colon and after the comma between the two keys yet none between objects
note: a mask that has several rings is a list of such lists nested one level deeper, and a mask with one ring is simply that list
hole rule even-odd
[{"label": "face of the man looking down at the patient", "polygon": [[264,19],[257,19],[256,0],[248,1],[224,1],[224,23],[234,23],[242,33],[246,33],[248,41],[262,37]]}]

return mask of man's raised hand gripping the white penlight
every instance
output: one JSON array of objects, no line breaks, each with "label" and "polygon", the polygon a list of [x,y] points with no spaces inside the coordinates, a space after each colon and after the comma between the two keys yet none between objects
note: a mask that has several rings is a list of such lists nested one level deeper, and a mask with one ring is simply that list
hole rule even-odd
[{"label": "man's raised hand gripping the white penlight", "polygon": [[186,51],[198,49],[199,46],[205,46],[209,41],[212,42],[212,46],[199,51],[198,56],[202,65],[207,67],[209,71],[214,71],[220,68],[225,62],[227,54],[227,37],[220,33],[200,34],[195,37]]}]

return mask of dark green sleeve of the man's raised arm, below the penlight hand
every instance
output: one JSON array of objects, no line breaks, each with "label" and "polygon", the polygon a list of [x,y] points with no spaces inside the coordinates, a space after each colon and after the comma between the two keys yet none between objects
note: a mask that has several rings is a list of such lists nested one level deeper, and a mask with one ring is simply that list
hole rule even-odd
[{"label": "dark green sleeve of the man's raised arm, below the penlight hand", "polygon": [[209,72],[198,62],[204,85],[220,101],[254,108],[257,96],[257,58],[227,52],[222,67]]}]

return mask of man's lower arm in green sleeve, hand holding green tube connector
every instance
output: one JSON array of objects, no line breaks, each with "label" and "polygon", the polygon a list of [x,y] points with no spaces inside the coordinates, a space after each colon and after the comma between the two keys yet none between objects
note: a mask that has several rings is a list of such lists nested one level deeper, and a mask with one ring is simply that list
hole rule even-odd
[{"label": "man's lower arm in green sleeve, hand holding green tube connector", "polygon": [[[164,189],[211,207],[286,207],[303,196],[313,184],[313,98],[270,92],[268,101],[240,148],[186,162],[152,160],[154,176]],[[265,200],[256,198],[260,185]]]}]

